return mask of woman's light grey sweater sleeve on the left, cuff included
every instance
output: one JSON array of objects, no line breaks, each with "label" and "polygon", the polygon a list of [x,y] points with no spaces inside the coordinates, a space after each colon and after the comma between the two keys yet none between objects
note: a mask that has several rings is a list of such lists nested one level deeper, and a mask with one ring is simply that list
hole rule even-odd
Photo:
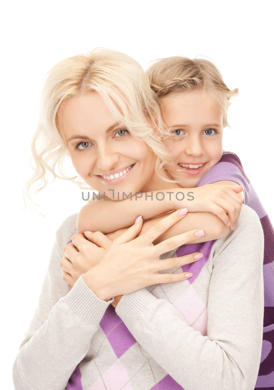
[{"label": "woman's light grey sweater sleeve on the left, cuff included", "polygon": [[71,217],[57,230],[39,303],[14,361],[15,390],[66,388],[113,301],[100,300],[82,278],[68,292],[59,263],[62,248],[76,231],[76,214]]}]

